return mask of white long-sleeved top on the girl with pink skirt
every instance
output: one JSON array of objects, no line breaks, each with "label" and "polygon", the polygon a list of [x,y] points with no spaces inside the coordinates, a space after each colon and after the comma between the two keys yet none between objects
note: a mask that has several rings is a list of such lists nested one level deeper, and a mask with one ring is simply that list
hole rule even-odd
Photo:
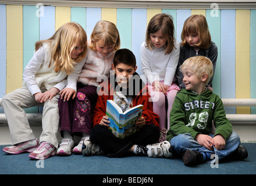
[{"label": "white long-sleeved top on the girl with pink skirt", "polygon": [[151,85],[154,81],[163,81],[165,85],[172,85],[173,78],[180,56],[179,42],[175,41],[175,48],[168,55],[165,55],[165,48],[155,48],[152,50],[145,47],[145,42],[141,44],[141,65],[144,76]]}]

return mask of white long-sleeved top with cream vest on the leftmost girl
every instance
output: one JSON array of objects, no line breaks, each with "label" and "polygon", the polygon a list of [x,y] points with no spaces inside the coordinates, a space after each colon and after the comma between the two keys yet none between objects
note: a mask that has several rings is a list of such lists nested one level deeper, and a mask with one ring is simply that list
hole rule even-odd
[{"label": "white long-sleeved top with cream vest on the leftmost girl", "polygon": [[[74,66],[72,74],[67,76],[65,71],[54,71],[54,62],[49,66],[49,45],[43,43],[31,58],[23,72],[24,84],[27,85],[32,95],[41,92],[40,87],[44,86],[48,90],[52,87],[58,88],[60,91],[65,88],[73,88],[76,91],[76,83],[79,73],[86,59],[81,60]],[[66,78],[67,77],[67,78]]]}]

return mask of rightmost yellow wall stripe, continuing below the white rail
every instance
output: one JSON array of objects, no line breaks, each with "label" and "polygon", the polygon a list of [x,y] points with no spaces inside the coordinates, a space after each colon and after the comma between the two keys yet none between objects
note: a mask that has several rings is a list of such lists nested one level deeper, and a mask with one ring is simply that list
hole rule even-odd
[{"label": "rightmost yellow wall stripe, continuing below the white rail", "polygon": [[[250,98],[250,10],[236,10],[236,98]],[[237,107],[250,114],[250,107]]]}]

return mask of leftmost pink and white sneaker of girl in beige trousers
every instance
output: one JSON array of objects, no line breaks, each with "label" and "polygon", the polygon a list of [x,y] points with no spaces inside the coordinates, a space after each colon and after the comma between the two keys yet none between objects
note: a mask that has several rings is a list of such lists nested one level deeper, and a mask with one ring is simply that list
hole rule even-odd
[{"label": "leftmost pink and white sneaker of girl in beige trousers", "polygon": [[16,145],[12,145],[12,146],[5,146],[5,148],[3,148],[3,151],[7,153],[11,153],[13,155],[17,155],[23,152],[33,152],[35,149],[37,149],[38,146],[39,146],[39,142],[38,140],[35,139],[35,140],[22,142]]}]

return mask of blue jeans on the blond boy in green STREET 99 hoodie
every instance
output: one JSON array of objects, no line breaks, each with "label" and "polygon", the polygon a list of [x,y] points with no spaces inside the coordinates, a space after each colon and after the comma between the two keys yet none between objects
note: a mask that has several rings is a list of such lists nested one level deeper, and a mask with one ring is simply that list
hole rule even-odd
[{"label": "blue jeans on the blond boy in green STREET 99 hoodie", "polygon": [[[214,137],[213,134],[210,136]],[[214,153],[218,155],[218,159],[222,159],[237,149],[240,145],[240,137],[237,133],[233,132],[230,137],[227,138],[225,148],[221,151],[218,151],[215,147],[214,151],[208,150],[205,146],[198,144],[189,133],[176,135],[170,140],[170,145],[172,145],[173,154],[179,156],[182,156],[187,149],[191,149],[192,151]]]}]

